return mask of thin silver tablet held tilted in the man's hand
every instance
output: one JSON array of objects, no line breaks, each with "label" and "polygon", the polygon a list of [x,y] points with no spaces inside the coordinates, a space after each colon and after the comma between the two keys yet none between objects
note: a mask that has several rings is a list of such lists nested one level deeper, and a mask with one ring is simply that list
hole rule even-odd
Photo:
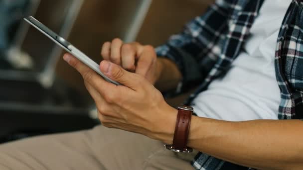
[{"label": "thin silver tablet held tilted in the man's hand", "polygon": [[28,22],[30,25],[35,27],[37,30],[42,32],[44,35],[46,35],[49,39],[53,40],[56,44],[58,44],[60,47],[62,47],[64,50],[66,50],[68,53],[75,56],[77,59],[79,59],[82,63],[86,64],[88,67],[90,67],[92,70],[97,72],[100,76],[103,77],[104,80],[107,82],[113,83],[115,85],[121,85],[116,81],[111,80],[110,78],[106,77],[99,68],[99,65],[95,63],[92,59],[87,57],[84,53],[82,53],[80,50],[78,50],[76,47],[74,47],[71,43],[66,41],[64,38],[60,37],[56,33],[54,33],[52,30],[50,30],[48,27],[43,25],[41,22],[36,20],[32,16],[28,16],[24,18],[26,22]]}]

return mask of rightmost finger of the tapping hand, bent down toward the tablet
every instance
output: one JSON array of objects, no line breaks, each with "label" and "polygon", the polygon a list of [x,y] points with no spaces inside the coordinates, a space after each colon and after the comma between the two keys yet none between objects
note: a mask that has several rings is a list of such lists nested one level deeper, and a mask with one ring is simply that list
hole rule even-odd
[{"label": "rightmost finger of the tapping hand, bent down toward the tablet", "polygon": [[155,62],[155,51],[152,46],[146,46],[145,50],[140,54],[138,59],[136,73],[146,76],[153,62]]}]

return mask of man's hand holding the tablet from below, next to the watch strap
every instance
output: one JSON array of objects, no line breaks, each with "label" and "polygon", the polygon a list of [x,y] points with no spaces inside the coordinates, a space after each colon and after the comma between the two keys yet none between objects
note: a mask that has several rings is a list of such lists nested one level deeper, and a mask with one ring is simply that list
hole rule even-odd
[{"label": "man's hand holding the tablet from below, next to the watch strap", "polygon": [[63,58],[82,75],[104,126],[172,143],[177,110],[169,106],[160,91],[143,76],[102,61],[101,72],[122,84],[114,85],[72,55],[65,54]]}]

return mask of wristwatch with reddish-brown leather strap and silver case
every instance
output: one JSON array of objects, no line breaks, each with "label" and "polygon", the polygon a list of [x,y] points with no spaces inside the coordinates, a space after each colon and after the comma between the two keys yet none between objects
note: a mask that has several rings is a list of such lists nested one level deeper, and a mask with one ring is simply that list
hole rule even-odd
[{"label": "wristwatch with reddish-brown leather strap and silver case", "polygon": [[190,106],[181,105],[178,107],[178,115],[173,135],[173,142],[172,145],[165,144],[164,146],[166,149],[174,152],[192,152],[192,148],[186,146],[192,113],[193,108]]}]

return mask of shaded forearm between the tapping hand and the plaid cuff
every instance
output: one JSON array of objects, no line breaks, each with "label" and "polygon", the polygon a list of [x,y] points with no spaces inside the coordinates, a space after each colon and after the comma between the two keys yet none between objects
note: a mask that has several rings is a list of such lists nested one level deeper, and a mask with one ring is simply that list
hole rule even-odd
[{"label": "shaded forearm between the tapping hand and the plaid cuff", "polygon": [[182,77],[176,65],[165,58],[158,58],[157,62],[159,78],[155,83],[155,87],[160,91],[176,88]]}]

